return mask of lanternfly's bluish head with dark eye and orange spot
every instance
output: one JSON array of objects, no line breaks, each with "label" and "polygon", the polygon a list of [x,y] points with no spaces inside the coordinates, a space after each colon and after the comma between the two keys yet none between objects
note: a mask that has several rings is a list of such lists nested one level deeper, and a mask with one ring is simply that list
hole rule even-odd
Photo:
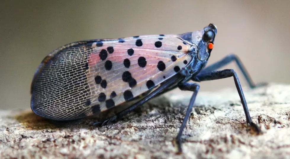
[{"label": "lanternfly's bluish head with dark eye and orange spot", "polygon": [[214,24],[209,24],[202,30],[192,32],[191,42],[198,48],[197,57],[199,60],[207,60],[210,57],[216,34],[217,28]]}]

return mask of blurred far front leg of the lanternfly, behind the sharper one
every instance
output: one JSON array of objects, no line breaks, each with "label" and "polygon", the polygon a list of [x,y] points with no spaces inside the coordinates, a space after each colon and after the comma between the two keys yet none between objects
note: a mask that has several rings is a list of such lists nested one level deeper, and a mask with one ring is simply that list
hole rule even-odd
[{"label": "blurred far front leg of the lanternfly, behind the sharper one", "polygon": [[[244,67],[244,65],[242,64],[241,60],[239,59],[239,57],[235,54],[230,54],[227,55],[226,57],[224,57],[223,59],[221,59],[220,61],[213,63],[210,66],[207,66],[206,68],[204,68],[202,71],[200,71],[200,74],[204,74],[204,73],[209,73],[212,71],[216,71],[219,68],[231,63],[232,61],[235,61],[236,64],[238,65],[239,69],[241,70],[241,72],[243,73],[244,77],[246,78],[247,83],[249,84],[250,88],[256,88],[256,87],[260,87],[260,86],[265,86],[267,85],[267,83],[258,83],[258,84],[254,84],[254,82],[252,81],[252,79],[249,76],[249,73],[247,72],[246,68]],[[199,79],[197,76],[191,78],[191,80],[193,81],[202,81],[201,79]]]}]

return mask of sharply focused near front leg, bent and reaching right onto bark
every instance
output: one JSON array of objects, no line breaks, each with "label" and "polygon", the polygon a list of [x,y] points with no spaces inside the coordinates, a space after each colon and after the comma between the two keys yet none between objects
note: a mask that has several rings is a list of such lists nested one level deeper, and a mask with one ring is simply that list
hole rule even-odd
[{"label": "sharply focused near front leg, bent and reaching right onto bark", "polygon": [[243,108],[244,108],[247,123],[249,123],[252,127],[254,127],[254,129],[256,130],[257,133],[261,132],[260,128],[255,123],[252,122],[252,119],[251,119],[250,114],[249,114],[247,102],[246,102],[246,99],[245,99],[245,96],[244,96],[244,93],[243,93],[243,90],[241,87],[241,83],[239,81],[237,73],[233,69],[225,69],[225,70],[221,70],[221,71],[199,73],[196,77],[200,81],[210,81],[210,80],[233,77],[237,91],[238,91],[240,99],[241,99],[241,103],[242,103]]}]

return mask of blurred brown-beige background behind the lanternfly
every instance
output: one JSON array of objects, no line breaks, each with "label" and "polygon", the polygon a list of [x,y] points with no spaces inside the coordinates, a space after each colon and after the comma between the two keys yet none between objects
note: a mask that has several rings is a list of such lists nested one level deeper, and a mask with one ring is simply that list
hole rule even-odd
[{"label": "blurred brown-beige background behind the lanternfly", "polygon": [[[254,82],[289,83],[290,1],[1,1],[0,109],[30,108],[38,64],[69,42],[218,28],[209,64],[237,54]],[[242,86],[246,82],[236,65]],[[202,82],[201,91],[234,88],[233,78]],[[178,90],[175,90],[178,91]],[[238,95],[238,94],[237,94]]]}]

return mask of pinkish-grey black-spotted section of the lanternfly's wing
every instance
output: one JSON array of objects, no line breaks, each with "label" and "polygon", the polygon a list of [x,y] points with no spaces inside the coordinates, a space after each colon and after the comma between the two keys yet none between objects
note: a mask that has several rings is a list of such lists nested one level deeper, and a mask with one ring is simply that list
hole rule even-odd
[{"label": "pinkish-grey black-spotted section of the lanternfly's wing", "polygon": [[141,36],[122,43],[105,41],[101,47],[96,44],[88,60],[88,83],[92,105],[100,111],[157,86],[192,59],[186,54],[190,45],[176,35]]}]

